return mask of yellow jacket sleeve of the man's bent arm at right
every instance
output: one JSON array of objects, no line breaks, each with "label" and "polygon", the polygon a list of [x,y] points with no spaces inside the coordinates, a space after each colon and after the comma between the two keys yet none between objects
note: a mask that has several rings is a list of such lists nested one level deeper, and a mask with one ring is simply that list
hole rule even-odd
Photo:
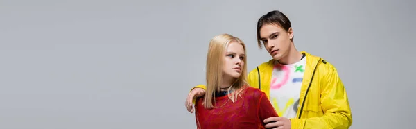
[{"label": "yellow jacket sleeve of the man's bent arm at right", "polygon": [[306,119],[291,119],[291,128],[349,128],[352,114],[347,92],[335,67],[329,69],[321,83],[321,105],[324,115]]}]

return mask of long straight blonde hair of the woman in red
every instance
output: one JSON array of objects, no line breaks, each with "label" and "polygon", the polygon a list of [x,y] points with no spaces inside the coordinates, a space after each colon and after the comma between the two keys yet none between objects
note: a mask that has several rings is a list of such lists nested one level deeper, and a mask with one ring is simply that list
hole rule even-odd
[{"label": "long straight blonde hair of the woman in red", "polygon": [[[216,35],[209,42],[209,49],[207,53],[207,89],[205,92],[205,98],[203,105],[205,108],[213,108],[215,105],[216,92],[220,91],[220,85],[223,83],[223,65],[225,52],[227,46],[231,42],[236,42],[243,45],[244,53],[245,44],[238,37],[234,37],[229,34]],[[231,94],[228,94],[229,99],[234,103],[237,100],[237,96],[240,95],[241,90],[245,85],[248,85],[246,82],[247,77],[247,58],[243,58],[244,66],[242,67],[241,76],[236,79],[235,83],[231,85],[227,92],[232,91]]]}]

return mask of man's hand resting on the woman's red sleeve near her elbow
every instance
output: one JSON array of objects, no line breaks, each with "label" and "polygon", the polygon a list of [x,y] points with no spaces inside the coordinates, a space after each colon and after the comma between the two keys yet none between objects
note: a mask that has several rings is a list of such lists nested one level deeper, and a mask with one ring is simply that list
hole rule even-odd
[{"label": "man's hand resting on the woman's red sleeve near her elbow", "polygon": [[266,128],[273,128],[273,129],[290,129],[291,128],[291,120],[285,117],[269,117],[268,119],[264,119],[263,121],[266,124]]}]

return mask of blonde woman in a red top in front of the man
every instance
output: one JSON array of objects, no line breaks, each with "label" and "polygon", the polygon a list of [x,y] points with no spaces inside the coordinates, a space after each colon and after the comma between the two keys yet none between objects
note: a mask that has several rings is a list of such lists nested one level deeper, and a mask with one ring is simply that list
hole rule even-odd
[{"label": "blonde woman in a red top in front of the man", "polygon": [[229,34],[211,39],[207,53],[207,89],[196,99],[198,128],[264,128],[277,117],[268,97],[246,83],[245,45]]}]

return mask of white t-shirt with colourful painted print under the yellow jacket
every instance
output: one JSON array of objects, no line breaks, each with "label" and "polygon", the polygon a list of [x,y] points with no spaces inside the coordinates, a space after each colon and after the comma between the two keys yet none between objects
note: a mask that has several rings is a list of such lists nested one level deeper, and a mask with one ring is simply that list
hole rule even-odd
[{"label": "white t-shirt with colourful painted print under the yellow jacket", "polygon": [[295,118],[306,58],[291,65],[275,64],[270,82],[270,101],[281,117]]}]

